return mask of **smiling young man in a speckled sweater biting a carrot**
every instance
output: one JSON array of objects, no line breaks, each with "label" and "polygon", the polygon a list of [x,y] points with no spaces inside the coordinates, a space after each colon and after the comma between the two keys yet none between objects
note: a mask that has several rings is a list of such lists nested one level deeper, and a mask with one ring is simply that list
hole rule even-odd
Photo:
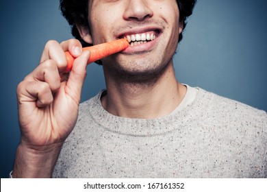
[{"label": "smiling young man in a speckled sweater biting a carrot", "polygon": [[62,11],[84,43],[131,46],[101,60],[107,90],[79,105],[90,53],[77,40],[47,43],[18,85],[13,177],[267,176],[266,112],[177,82],[173,54],[195,1],[73,2]]}]

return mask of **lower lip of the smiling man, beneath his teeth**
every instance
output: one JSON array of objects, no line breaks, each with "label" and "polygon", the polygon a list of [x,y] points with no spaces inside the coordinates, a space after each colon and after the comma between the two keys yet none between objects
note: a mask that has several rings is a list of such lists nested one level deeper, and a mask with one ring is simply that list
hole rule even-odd
[{"label": "lower lip of the smiling man, beneath his teeth", "polygon": [[135,53],[144,53],[147,51],[151,51],[155,47],[155,44],[157,43],[157,39],[158,39],[158,36],[157,38],[155,38],[155,40],[148,41],[147,43],[129,46],[125,50],[121,51],[120,53],[135,54]]}]

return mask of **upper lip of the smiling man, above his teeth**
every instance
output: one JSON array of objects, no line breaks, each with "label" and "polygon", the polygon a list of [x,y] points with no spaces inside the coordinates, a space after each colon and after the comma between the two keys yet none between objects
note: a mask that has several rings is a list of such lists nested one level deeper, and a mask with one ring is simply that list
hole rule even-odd
[{"label": "upper lip of the smiling man, above his teeth", "polygon": [[162,28],[160,27],[135,27],[134,29],[127,29],[123,32],[120,32],[116,38],[124,38],[127,35],[132,34],[142,34],[146,32],[155,32],[156,34],[160,34],[162,32]]}]

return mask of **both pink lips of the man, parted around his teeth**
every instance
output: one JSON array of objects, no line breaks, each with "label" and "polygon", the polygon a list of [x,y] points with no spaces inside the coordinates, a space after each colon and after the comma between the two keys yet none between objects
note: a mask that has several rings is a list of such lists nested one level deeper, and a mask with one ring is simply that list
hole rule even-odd
[{"label": "both pink lips of the man, parted around his teeth", "polygon": [[155,40],[148,41],[147,43],[135,45],[135,46],[129,46],[127,49],[121,51],[120,53],[124,54],[137,54],[137,53],[145,53],[148,51],[151,51],[155,45],[157,44],[158,39],[160,38],[162,34],[162,29],[159,27],[143,27],[143,28],[135,28],[128,31],[121,32],[118,34],[117,38],[124,38],[127,35],[131,34],[142,34],[142,33],[149,33],[149,32],[155,32],[156,38]]}]

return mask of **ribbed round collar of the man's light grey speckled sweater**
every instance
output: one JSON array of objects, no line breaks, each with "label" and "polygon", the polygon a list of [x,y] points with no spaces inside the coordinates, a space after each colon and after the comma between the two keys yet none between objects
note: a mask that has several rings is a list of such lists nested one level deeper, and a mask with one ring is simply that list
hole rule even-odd
[{"label": "ribbed round collar of the man's light grey speckled sweater", "polygon": [[[201,88],[195,88],[196,95],[194,100],[183,106],[181,110],[175,109],[169,115],[158,117],[155,119],[131,119],[126,117],[118,117],[107,112],[101,104],[101,95],[105,90],[101,91],[95,97],[89,100],[89,113],[94,121],[110,132],[117,134],[125,134],[131,136],[155,136],[166,134],[173,130],[183,129],[199,117],[203,109],[207,108],[207,95]],[[184,99],[187,99],[186,97]],[[205,106],[203,106],[203,104]]]}]

